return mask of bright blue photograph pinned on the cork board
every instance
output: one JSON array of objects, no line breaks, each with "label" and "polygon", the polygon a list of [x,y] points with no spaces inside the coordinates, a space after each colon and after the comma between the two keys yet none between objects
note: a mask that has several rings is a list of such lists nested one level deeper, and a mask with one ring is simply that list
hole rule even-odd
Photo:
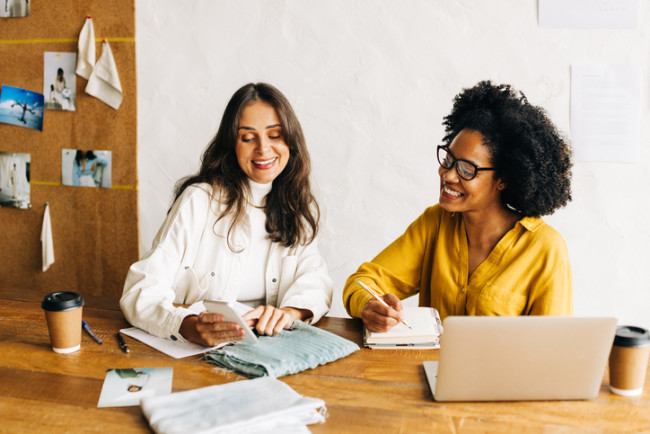
[{"label": "bright blue photograph pinned on the cork board", "polygon": [[3,85],[0,122],[43,131],[43,101],[43,94]]}]

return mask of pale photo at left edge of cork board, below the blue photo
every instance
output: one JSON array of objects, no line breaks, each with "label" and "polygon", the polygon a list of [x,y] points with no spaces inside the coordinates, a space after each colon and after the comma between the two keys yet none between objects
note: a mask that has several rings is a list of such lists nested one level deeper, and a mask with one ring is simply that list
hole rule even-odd
[{"label": "pale photo at left edge of cork board, below the blue photo", "polygon": [[30,154],[0,152],[0,207],[30,207]]}]

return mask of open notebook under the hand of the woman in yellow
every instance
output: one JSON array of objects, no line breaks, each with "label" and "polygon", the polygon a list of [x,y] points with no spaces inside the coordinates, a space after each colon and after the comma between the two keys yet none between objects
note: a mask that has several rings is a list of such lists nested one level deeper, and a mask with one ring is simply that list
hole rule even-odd
[{"label": "open notebook under the hand of the woman in yellow", "polygon": [[438,311],[432,307],[405,307],[402,323],[384,333],[365,330],[364,345],[368,348],[440,348],[439,336],[442,333]]}]

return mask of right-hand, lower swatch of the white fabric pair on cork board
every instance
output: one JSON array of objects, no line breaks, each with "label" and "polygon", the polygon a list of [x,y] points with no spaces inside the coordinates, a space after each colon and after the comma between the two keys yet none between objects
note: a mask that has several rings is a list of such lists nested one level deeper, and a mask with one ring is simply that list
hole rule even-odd
[{"label": "right-hand, lower swatch of the white fabric pair on cork board", "polygon": [[99,56],[95,69],[88,78],[86,93],[99,98],[115,110],[122,104],[120,76],[117,73],[113,52],[107,40],[102,42],[102,55]]}]

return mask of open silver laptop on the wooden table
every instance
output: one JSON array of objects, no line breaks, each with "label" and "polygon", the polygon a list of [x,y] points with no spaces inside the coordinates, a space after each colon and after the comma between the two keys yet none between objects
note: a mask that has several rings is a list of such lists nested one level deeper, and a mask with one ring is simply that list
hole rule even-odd
[{"label": "open silver laptop on the wooden table", "polygon": [[424,371],[436,401],[593,399],[616,318],[452,316]]}]

